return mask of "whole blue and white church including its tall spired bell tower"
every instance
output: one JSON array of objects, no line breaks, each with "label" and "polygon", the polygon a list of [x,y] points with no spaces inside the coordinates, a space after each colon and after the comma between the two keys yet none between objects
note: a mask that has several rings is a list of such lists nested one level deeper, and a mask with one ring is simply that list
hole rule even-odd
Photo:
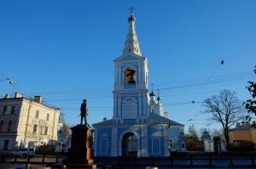
[{"label": "whole blue and white church including its tall spired bell tower", "polygon": [[123,54],[114,59],[113,119],[93,125],[94,155],[169,156],[174,144],[185,151],[183,124],[166,118],[160,98],[150,97],[148,59],[131,13]]}]

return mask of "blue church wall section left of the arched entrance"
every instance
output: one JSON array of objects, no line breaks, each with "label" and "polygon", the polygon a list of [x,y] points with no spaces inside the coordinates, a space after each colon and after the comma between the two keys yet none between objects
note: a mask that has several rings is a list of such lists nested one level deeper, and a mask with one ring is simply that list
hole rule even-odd
[{"label": "blue church wall section left of the arched entrance", "polygon": [[111,154],[111,128],[101,128],[97,137],[97,156],[109,156]]}]

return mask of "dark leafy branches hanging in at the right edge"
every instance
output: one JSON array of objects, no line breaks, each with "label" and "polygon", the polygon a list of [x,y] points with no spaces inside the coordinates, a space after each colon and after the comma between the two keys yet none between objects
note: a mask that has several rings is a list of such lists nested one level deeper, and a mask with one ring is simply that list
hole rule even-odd
[{"label": "dark leafy branches hanging in at the right edge", "polygon": [[[256,74],[256,66],[254,66],[254,72]],[[246,102],[246,109],[248,113],[252,113],[256,115],[256,82],[248,82],[249,86],[247,87],[247,90],[253,97],[253,99],[248,99]],[[248,121],[251,121],[252,117],[250,115],[247,115],[246,119]],[[253,127],[256,127],[255,121],[253,121]]]}]

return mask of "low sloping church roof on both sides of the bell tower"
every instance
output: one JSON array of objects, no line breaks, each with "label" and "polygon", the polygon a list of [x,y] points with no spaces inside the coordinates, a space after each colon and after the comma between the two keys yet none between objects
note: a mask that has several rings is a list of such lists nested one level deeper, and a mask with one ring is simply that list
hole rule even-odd
[{"label": "low sloping church roof on both sides of the bell tower", "polygon": [[[180,124],[176,121],[172,121],[170,119],[167,119],[166,117],[163,117],[161,115],[157,114],[151,114],[148,116],[146,119],[146,123],[143,123],[146,125],[157,125],[157,124],[170,124],[170,126],[184,126],[183,124]],[[107,121],[102,121],[94,124],[94,127],[97,126],[111,126],[113,125],[113,119],[107,120]]]}]

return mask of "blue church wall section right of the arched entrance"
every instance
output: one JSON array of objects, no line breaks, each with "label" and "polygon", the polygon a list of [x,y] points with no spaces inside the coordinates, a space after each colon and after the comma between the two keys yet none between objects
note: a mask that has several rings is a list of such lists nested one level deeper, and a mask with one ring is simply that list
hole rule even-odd
[{"label": "blue church wall section right of the arched entrance", "polygon": [[164,156],[164,149],[162,127],[148,127],[148,155]]}]

